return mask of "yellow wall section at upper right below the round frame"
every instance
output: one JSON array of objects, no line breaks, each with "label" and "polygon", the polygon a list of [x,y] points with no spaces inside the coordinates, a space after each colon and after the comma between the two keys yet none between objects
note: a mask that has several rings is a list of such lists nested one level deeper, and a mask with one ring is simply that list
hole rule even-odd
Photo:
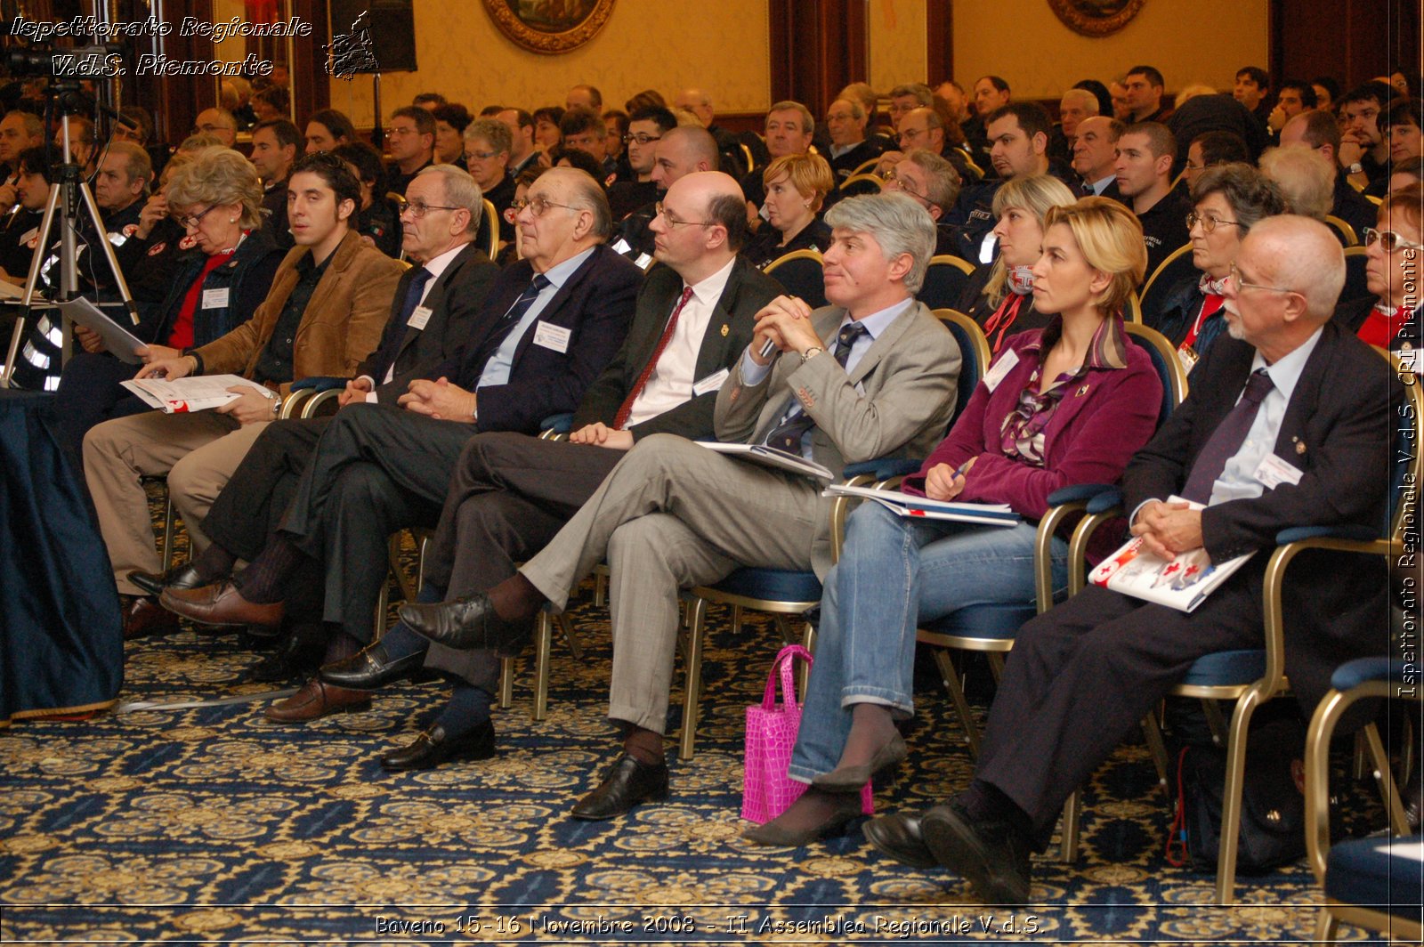
[{"label": "yellow wall section at upper right below the round frame", "polygon": [[[954,4],[954,78],[994,73],[1015,98],[1058,98],[1084,78],[1104,83],[1139,63],[1175,93],[1190,83],[1230,90],[1242,66],[1267,66],[1266,0],[1148,0],[1124,30],[1079,36],[1047,0]],[[940,77],[930,77],[938,81]]]}]

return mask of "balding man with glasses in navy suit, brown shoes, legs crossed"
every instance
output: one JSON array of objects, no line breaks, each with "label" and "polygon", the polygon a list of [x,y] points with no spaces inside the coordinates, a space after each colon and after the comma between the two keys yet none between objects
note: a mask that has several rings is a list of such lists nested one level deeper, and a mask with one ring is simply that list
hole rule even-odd
[{"label": "balding man with glasses in navy suit, brown shoes, legs crossed", "polygon": [[[439,209],[434,205],[431,211]],[[410,382],[397,404],[343,409],[325,430],[276,534],[236,580],[168,588],[164,601],[208,624],[276,624],[289,577],[325,571],[326,661],[370,638],[386,574],[386,538],[434,525],[466,441],[481,431],[535,433],[572,412],[622,345],[642,272],[608,249],[602,188],[571,168],[545,172],[518,211],[524,259],[500,273],[487,316],[459,355]],[[313,719],[365,705],[363,694],[312,679],[268,709]]]}]

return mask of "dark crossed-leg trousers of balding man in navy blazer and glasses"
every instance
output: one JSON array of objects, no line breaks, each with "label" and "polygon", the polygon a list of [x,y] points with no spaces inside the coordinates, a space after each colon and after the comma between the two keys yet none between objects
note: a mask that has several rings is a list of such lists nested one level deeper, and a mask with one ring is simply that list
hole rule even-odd
[{"label": "dark crossed-leg trousers of balding man in navy blazer and glasses", "polygon": [[392,533],[434,525],[474,424],[386,404],[343,407],[328,424],[279,531],[322,563],[323,621],[370,641]]}]

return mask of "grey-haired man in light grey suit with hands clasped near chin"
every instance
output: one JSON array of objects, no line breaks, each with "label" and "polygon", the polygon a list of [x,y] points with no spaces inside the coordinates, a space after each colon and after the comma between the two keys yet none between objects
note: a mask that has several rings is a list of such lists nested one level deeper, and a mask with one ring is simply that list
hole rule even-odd
[{"label": "grey-haired man in light grey suit with hands clasped near chin", "polygon": [[[769,443],[837,474],[873,457],[923,457],[954,410],[960,352],[916,302],[934,252],[934,222],[904,195],[849,198],[826,222],[826,296],[812,312],[779,296],[718,393],[722,440]],[[646,437],[544,551],[490,592],[402,609],[412,627],[453,647],[501,647],[527,634],[545,602],[605,555],[612,567],[614,672],[609,716],[624,753],[572,809],[611,819],[668,792],[662,731],[678,629],[678,590],[742,565],[830,567],[827,507],[817,480],[713,454],[681,437]]]}]

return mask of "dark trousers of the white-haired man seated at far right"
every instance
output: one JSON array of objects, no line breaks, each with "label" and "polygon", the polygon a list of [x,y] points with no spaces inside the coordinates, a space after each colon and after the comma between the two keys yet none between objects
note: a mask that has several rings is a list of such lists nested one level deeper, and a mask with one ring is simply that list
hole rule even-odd
[{"label": "dark trousers of the white-haired man seated at far right", "polygon": [[1262,567],[1253,565],[1190,614],[1091,585],[1020,629],[975,778],[1030,816],[1040,846],[1068,796],[1193,661],[1263,647]]}]

